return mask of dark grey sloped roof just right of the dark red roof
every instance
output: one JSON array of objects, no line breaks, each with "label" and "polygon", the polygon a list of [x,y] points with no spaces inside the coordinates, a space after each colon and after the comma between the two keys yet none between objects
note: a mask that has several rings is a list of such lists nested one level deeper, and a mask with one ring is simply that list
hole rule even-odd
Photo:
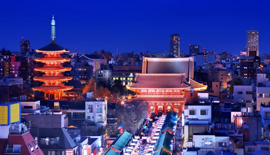
[{"label": "dark grey sloped roof just right of the dark red roof", "polygon": [[39,137],[49,137],[55,138],[59,137],[58,145],[46,145],[41,144],[40,141],[38,143],[40,149],[45,150],[65,150],[65,149],[74,149],[76,144],[73,142],[69,133],[65,128],[39,128]]}]

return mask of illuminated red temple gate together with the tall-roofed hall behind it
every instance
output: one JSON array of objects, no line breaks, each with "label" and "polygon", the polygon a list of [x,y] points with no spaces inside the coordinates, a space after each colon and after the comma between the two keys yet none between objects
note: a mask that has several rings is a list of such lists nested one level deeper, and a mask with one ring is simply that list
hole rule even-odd
[{"label": "illuminated red temple gate together with the tall-roofed hall behind it", "polygon": [[143,57],[142,73],[136,74],[134,84],[126,86],[136,92],[136,97],[129,101],[147,102],[150,113],[182,112],[185,91],[207,89],[205,83],[193,79],[193,67],[193,57]]}]

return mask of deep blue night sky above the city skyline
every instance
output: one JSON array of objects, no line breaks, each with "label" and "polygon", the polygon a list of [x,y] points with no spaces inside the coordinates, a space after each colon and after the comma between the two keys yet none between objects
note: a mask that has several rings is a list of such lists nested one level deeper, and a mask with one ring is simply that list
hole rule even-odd
[{"label": "deep blue night sky above the city skyline", "polygon": [[[246,31],[259,30],[259,53],[270,53],[268,1],[1,1],[0,46],[19,50],[21,37],[31,49],[56,43],[71,49],[116,53],[169,51],[170,35],[180,34],[180,50],[200,44],[207,51],[238,54]],[[1,48],[1,47],[0,47]]]}]

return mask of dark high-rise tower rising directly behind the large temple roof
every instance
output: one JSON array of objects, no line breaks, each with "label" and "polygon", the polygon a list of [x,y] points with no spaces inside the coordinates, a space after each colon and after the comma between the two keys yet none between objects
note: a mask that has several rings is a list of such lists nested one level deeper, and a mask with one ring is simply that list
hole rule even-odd
[{"label": "dark high-rise tower rising directly behind the large temple roof", "polygon": [[180,56],[180,35],[177,33],[170,35],[170,53],[174,57]]}]

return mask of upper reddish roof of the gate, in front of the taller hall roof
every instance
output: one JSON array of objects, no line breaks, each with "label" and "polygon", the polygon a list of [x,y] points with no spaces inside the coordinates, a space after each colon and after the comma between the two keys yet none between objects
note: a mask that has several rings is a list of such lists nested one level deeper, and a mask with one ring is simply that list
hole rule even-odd
[{"label": "upper reddish roof of the gate, in front of the taller hall roof", "polygon": [[130,88],[183,88],[190,86],[185,84],[185,74],[137,74],[135,84],[127,86]]}]

